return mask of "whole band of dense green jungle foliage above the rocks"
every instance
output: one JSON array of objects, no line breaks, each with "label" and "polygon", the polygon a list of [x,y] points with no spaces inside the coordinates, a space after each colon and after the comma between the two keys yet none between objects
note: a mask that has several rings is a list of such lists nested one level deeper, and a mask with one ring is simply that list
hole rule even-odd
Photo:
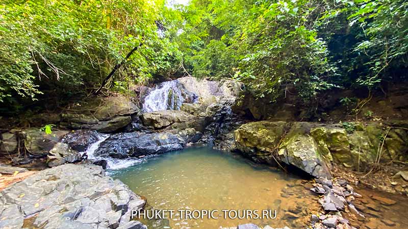
[{"label": "whole band of dense green jungle foliage above the rocks", "polygon": [[271,101],[288,85],[373,89],[406,80],[407,14],[403,0],[2,0],[0,104],[84,96],[119,63],[111,91],[182,75]]}]

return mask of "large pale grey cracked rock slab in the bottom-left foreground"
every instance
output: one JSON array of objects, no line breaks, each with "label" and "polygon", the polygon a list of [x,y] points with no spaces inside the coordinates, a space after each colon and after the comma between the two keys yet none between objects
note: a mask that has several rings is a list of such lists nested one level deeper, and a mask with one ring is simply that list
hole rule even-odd
[{"label": "large pale grey cracked rock slab in the bottom-left foreground", "polygon": [[0,203],[0,228],[147,228],[130,223],[145,201],[95,165],[40,171],[0,192]]}]

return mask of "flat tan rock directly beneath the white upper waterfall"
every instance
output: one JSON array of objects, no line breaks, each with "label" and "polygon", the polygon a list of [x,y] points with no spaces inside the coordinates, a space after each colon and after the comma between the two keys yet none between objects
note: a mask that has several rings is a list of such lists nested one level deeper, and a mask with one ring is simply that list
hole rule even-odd
[{"label": "flat tan rock directly beneath the white upper waterfall", "polygon": [[174,123],[194,122],[196,117],[181,110],[161,110],[143,113],[140,117],[145,126],[162,129]]}]

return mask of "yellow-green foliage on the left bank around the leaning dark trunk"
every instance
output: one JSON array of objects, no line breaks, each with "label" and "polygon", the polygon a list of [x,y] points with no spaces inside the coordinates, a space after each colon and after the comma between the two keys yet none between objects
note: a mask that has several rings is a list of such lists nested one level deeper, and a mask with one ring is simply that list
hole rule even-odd
[{"label": "yellow-green foliage on the left bank around the leaning dark trunk", "polygon": [[158,33],[156,22],[165,21],[163,7],[162,0],[3,1],[0,102],[16,95],[35,99],[42,92],[64,96],[97,88],[140,43],[114,81],[141,83],[154,74],[169,74],[181,54],[165,32]]}]

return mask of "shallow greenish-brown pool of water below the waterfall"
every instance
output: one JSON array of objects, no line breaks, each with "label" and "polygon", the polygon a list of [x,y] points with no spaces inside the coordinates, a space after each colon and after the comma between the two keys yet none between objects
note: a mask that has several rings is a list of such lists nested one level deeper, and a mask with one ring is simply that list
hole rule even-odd
[{"label": "shallow greenish-brown pool of water below the waterfall", "polygon": [[[295,182],[299,182],[298,178],[264,166],[253,167],[240,157],[210,148],[188,148],[167,153],[117,171],[113,177],[145,196],[148,205],[155,209],[175,210],[176,213],[180,209],[217,209],[220,212],[222,209],[277,210],[276,219],[257,220],[187,220],[175,214],[176,217],[165,223],[171,228],[207,229],[248,222],[275,227],[290,226],[283,220],[286,214],[284,209],[296,206],[296,200],[299,201],[303,195],[301,191],[289,195],[283,193],[288,186],[293,187]],[[306,201],[302,199],[303,203]]]}]

